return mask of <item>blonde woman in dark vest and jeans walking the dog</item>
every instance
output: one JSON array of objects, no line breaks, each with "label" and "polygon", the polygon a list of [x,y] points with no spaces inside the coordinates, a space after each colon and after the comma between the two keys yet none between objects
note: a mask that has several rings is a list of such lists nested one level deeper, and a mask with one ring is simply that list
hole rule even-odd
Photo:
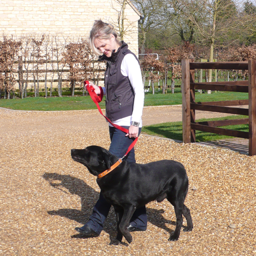
[{"label": "blonde woman in dark vest and jeans walking the dog", "polygon": [[[122,158],[130,144],[140,135],[142,127],[142,110],[144,104],[144,88],[140,65],[137,57],[128,45],[117,39],[117,34],[111,24],[96,20],[90,32],[90,46],[99,56],[99,60],[107,62],[105,72],[105,88],[92,83],[95,93],[106,95],[106,116],[118,126],[123,126],[129,132],[116,129],[109,124],[110,153]],[[135,163],[134,148],[124,159]],[[93,214],[88,222],[76,231],[87,236],[98,236],[103,229],[111,205],[100,193],[99,200],[93,208]],[[147,228],[146,208],[135,210],[128,230],[144,231]]]}]

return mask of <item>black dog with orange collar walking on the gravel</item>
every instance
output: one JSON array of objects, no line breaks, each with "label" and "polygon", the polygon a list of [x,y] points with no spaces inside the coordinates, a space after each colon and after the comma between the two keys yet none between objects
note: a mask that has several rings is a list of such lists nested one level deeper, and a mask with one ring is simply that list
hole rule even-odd
[{"label": "black dog with orange collar walking on the gravel", "polygon": [[[188,177],[181,163],[172,160],[138,164],[119,160],[107,149],[89,146],[85,149],[71,149],[74,161],[84,164],[89,172],[99,176],[97,183],[102,195],[111,203],[116,212],[117,236],[111,244],[118,245],[124,236],[127,242],[132,242],[132,236],[127,230],[130,219],[136,208],[165,198],[174,206],[176,214],[176,228],[170,236],[170,241],[178,240],[182,228],[182,214],[186,218],[187,227],[184,231],[191,231],[193,223],[190,210],[184,205],[188,191]],[[118,163],[118,160],[121,162]],[[112,165],[119,164],[109,171]]]}]

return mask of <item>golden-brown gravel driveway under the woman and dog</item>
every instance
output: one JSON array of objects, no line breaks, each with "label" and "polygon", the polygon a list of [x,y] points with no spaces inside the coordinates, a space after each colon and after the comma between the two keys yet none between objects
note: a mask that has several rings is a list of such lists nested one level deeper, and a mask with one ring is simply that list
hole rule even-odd
[{"label": "golden-brown gravel driveway under the woman and dog", "polygon": [[[143,121],[181,121],[181,107],[146,107]],[[256,256],[256,156],[141,135],[138,163],[173,159],[184,164],[194,229],[168,242],[175,228],[173,207],[167,200],[151,202],[147,231],[132,233],[130,245],[123,240],[115,247],[108,245],[116,235],[113,210],[99,237],[74,231],[90,216],[99,188],[96,178],[71,159],[70,149],[109,147],[107,123],[98,110],[0,109],[0,131],[1,256]]]}]

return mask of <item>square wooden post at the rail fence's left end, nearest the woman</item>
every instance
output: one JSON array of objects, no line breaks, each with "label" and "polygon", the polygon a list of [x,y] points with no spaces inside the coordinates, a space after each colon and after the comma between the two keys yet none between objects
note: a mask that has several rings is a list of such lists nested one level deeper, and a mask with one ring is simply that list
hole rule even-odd
[{"label": "square wooden post at the rail fence's left end, nearest the woman", "polygon": [[182,59],[182,140],[191,142],[190,119],[190,60]]}]

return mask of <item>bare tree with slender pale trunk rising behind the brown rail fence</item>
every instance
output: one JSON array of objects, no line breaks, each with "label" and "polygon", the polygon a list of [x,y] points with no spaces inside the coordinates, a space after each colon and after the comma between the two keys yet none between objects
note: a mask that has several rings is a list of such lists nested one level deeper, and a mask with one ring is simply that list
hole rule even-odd
[{"label": "bare tree with slender pale trunk rising behind the brown rail fence", "polygon": [[[244,22],[238,15],[239,0],[181,0],[177,6],[191,22],[196,42],[209,46],[209,61],[214,59],[214,48],[223,46],[230,31]],[[208,81],[212,81],[212,70],[209,70]]]}]

